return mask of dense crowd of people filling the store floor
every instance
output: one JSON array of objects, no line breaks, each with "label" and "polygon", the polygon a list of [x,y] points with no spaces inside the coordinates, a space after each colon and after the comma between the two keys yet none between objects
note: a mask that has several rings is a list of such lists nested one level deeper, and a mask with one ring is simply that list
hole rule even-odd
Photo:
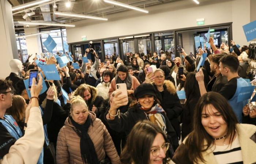
[{"label": "dense crowd of people filling the store floor", "polygon": [[[209,43],[174,59],[161,51],[102,60],[86,49],[87,63],[72,55],[63,67],[44,54],[12,60],[0,80],[0,163],[256,163],[256,105],[238,101],[240,87],[255,85],[255,43]],[[60,80],[38,61],[56,66]]]}]

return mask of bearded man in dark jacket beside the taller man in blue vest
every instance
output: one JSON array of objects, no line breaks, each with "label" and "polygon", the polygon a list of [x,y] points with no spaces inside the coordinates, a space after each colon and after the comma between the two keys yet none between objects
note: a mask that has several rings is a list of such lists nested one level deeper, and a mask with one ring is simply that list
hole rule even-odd
[{"label": "bearded man in dark jacket beside the taller man in blue vest", "polygon": [[227,78],[222,76],[219,70],[219,60],[224,56],[224,54],[211,55],[210,57],[210,68],[211,73],[214,76],[211,78],[207,85],[208,91],[219,92],[222,87],[227,83]]}]

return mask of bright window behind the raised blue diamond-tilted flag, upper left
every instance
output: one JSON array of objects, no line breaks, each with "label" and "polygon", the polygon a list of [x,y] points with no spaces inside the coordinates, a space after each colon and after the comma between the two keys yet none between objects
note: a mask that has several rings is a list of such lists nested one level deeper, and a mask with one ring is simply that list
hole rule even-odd
[{"label": "bright window behind the raised blue diamond-tilted flag, upper left", "polygon": [[[61,34],[62,33],[62,34]],[[54,42],[56,42],[56,47],[52,50],[53,54],[56,54],[57,52],[63,53],[67,48],[64,48],[63,44],[67,44],[67,33],[66,29],[58,29],[58,30],[50,30],[50,33],[48,34],[41,34],[41,42],[42,42],[42,51],[44,53],[48,52],[46,47],[44,46],[44,41],[48,38],[48,35],[50,35]]]}]

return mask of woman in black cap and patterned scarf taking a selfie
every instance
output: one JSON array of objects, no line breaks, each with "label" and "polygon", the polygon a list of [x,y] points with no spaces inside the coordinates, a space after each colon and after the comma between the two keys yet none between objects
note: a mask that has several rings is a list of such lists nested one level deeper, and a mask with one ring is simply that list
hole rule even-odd
[{"label": "woman in black cap and patterned scarf taking a selfie", "polygon": [[172,124],[170,124],[165,111],[159,105],[156,91],[152,84],[143,83],[136,88],[134,91],[136,100],[131,103],[130,108],[124,114],[118,112],[118,108],[127,105],[128,99],[125,95],[120,96],[120,94],[121,92],[119,91],[114,95],[110,109],[108,113],[105,113],[110,128],[117,132],[125,132],[128,135],[139,120],[150,120],[160,126],[164,133],[167,134],[174,150],[178,147],[176,132]]}]

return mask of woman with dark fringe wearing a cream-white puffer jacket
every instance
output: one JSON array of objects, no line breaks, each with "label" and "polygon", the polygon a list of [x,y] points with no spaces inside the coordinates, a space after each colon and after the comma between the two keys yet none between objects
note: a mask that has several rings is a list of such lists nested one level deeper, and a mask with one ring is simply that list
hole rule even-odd
[{"label": "woman with dark fringe wearing a cream-white puffer jacket", "polygon": [[109,98],[109,86],[110,82],[113,79],[113,74],[110,71],[103,71],[102,73],[102,81],[97,85],[98,95],[103,97],[104,99]]}]

